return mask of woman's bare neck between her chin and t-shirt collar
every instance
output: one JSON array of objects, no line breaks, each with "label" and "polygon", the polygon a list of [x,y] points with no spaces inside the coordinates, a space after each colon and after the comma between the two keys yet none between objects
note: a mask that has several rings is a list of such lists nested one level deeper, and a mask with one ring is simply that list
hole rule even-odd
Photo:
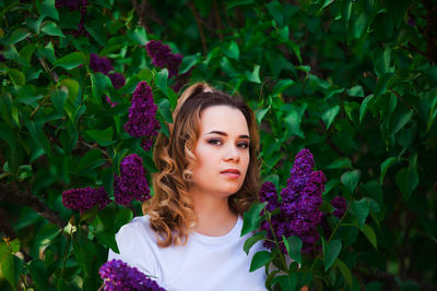
[{"label": "woman's bare neck between her chin and t-shirt collar", "polygon": [[222,237],[235,227],[238,215],[229,209],[227,197],[208,195],[194,189],[190,194],[198,217],[196,232],[208,237]]}]

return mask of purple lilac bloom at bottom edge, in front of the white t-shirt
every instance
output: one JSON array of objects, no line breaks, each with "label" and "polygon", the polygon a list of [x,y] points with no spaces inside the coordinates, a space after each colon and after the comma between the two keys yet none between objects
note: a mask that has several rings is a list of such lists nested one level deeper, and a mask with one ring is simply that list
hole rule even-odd
[{"label": "purple lilac bloom at bottom edge, in front of the white t-shirt", "polygon": [[145,274],[119,259],[103,264],[98,274],[104,282],[105,291],[165,291]]}]

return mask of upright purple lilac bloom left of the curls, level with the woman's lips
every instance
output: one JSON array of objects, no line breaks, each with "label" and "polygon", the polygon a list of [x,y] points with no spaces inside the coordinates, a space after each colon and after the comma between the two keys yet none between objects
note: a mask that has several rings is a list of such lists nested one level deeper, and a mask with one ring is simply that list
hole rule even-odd
[{"label": "upright purple lilac bloom left of the curls, level with the woman's lips", "polygon": [[128,205],[132,199],[145,202],[150,197],[143,159],[137,154],[125,157],[120,163],[120,175],[114,177],[115,201]]}]

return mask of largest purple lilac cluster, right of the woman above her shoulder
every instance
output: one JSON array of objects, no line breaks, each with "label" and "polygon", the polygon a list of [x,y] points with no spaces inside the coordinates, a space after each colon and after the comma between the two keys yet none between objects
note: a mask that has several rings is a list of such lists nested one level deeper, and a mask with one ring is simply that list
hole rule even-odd
[{"label": "largest purple lilac cluster, right of the woman above her shoulder", "polygon": [[[321,193],[324,190],[326,177],[321,171],[312,171],[315,166],[312,154],[304,148],[295,158],[287,186],[281,191],[281,204],[276,199],[276,191],[272,184],[261,187],[261,201],[268,202],[267,209],[281,209],[280,214],[272,215],[271,226],[269,221],[261,223],[261,229],[267,230],[268,239],[274,235],[281,240],[282,235],[288,238],[297,235],[303,241],[303,253],[310,253],[319,240],[317,226],[320,223],[322,213],[319,209],[322,204]],[[272,250],[275,245],[270,241],[264,246]],[[283,253],[286,253],[283,243],[280,244]]]}]

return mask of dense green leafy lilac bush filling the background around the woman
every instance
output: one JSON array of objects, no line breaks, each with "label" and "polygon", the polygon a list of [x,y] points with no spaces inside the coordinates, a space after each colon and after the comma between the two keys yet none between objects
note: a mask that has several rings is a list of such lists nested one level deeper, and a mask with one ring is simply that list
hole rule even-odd
[{"label": "dense green leafy lilac bush filling the background around the woman", "polygon": [[[261,128],[271,183],[244,231],[246,251],[270,238],[252,260],[269,289],[435,289],[436,20],[433,0],[0,0],[0,288],[102,286],[149,195],[153,136],[203,80]],[[265,225],[295,203],[303,148],[327,179],[308,250]]]}]

